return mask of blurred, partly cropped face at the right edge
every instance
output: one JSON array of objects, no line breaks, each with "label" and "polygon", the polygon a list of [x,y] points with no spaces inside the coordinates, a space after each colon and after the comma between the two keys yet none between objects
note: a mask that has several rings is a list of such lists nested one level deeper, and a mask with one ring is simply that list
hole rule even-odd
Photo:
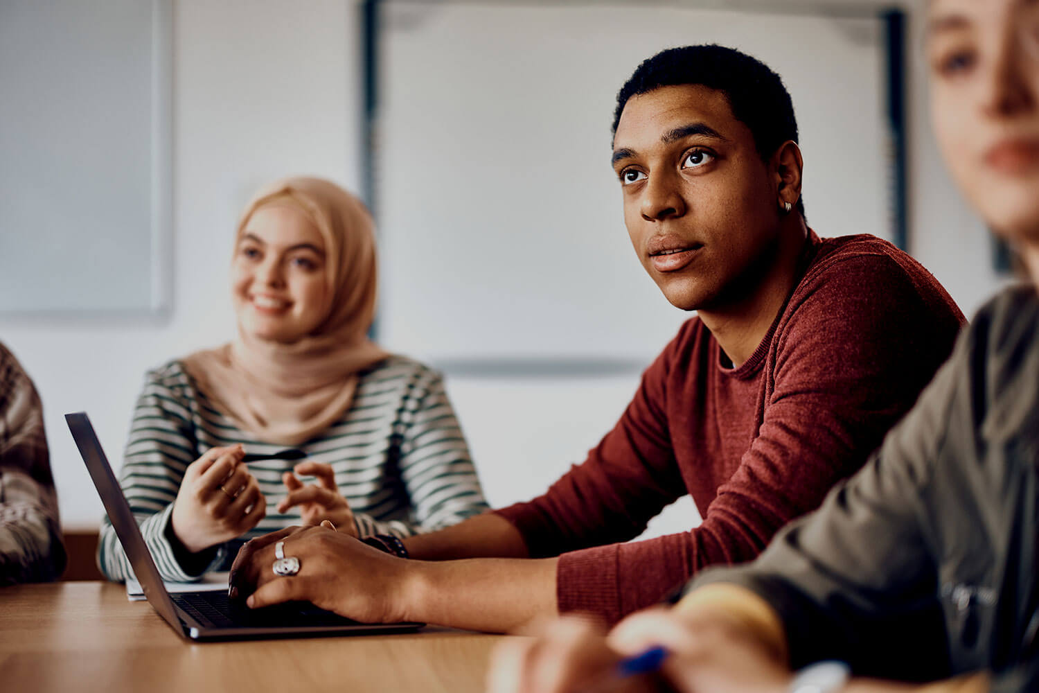
[{"label": "blurred, partly cropped face at the right edge", "polygon": [[931,0],[932,114],[953,177],[1001,236],[1039,247],[1039,2]]}]

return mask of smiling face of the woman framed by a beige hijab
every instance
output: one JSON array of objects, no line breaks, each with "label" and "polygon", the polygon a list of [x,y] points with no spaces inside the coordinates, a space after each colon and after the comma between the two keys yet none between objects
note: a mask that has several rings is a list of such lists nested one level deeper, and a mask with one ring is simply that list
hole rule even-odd
[{"label": "smiling face of the woman framed by a beige hijab", "polygon": [[256,210],[231,264],[231,294],[242,331],[289,344],[313,332],[328,314],[325,244],[291,203]]}]

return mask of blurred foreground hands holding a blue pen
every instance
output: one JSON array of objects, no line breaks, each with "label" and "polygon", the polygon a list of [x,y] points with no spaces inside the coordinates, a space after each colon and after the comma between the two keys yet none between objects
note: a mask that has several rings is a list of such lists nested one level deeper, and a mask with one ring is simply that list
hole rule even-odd
[{"label": "blurred foreground hands holding a blue pen", "polygon": [[[656,675],[617,675],[621,658],[651,647],[668,651]],[[791,678],[751,634],[725,618],[692,620],[658,607],[624,619],[609,635],[589,619],[565,616],[533,640],[505,641],[491,659],[487,690],[782,693]]]}]

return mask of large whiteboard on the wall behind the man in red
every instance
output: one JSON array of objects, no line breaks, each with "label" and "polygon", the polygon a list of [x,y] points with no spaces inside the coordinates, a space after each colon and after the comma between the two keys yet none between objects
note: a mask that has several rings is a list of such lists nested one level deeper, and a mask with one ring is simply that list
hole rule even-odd
[{"label": "large whiteboard on the wall behind the man in red", "polygon": [[375,139],[379,339],[434,363],[646,363],[689,318],[640,266],[610,168],[644,58],[719,43],[782,76],[809,225],[890,237],[879,18],[388,2]]}]

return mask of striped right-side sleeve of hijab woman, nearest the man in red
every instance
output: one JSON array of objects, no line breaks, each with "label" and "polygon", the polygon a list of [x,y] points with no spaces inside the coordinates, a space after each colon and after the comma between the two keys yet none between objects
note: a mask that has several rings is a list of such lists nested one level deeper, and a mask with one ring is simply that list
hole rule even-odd
[{"label": "striped right-side sleeve of hijab woman, nearest the man in red", "polygon": [[377,522],[358,513],[361,536],[398,537],[455,525],[487,509],[469,446],[435,371],[422,368],[401,412],[401,480],[410,497],[414,523]]}]

